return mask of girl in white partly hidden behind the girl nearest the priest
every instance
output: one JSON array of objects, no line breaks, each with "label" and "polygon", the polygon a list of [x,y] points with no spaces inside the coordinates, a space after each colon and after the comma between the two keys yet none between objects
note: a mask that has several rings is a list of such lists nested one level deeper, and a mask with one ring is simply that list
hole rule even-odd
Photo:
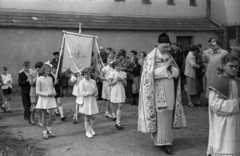
[{"label": "girl in white partly hidden behind the girl nearest the priest", "polygon": [[[116,120],[116,115],[114,113],[113,105],[111,103],[111,89],[109,86],[109,75],[111,72],[114,71],[114,69],[111,66],[111,61],[113,62],[113,59],[108,58],[108,65],[102,68],[102,76],[100,77],[103,80],[103,87],[102,87],[102,98],[106,100],[106,111],[105,111],[105,117],[106,118],[112,118],[114,121]],[[109,108],[112,111],[112,115],[109,113]]]}]

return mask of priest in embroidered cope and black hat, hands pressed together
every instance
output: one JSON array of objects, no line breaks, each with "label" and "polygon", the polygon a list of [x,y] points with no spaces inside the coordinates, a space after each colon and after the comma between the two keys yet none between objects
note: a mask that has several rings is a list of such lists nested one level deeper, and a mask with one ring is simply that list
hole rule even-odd
[{"label": "priest in embroidered cope and black hat, hands pressed together", "polygon": [[171,154],[173,128],[186,126],[181,83],[174,86],[179,68],[168,51],[169,46],[169,37],[163,33],[158,37],[157,46],[147,55],[138,107],[138,131],[150,133],[154,145],[163,146],[167,154]]}]

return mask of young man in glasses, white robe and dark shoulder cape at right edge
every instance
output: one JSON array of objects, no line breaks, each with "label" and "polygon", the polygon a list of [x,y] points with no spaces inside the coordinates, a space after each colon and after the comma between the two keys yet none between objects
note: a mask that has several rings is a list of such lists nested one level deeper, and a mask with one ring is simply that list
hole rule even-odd
[{"label": "young man in glasses, white robe and dark shoulder cape at right edge", "polygon": [[208,156],[240,156],[239,59],[227,54],[223,74],[209,87]]}]

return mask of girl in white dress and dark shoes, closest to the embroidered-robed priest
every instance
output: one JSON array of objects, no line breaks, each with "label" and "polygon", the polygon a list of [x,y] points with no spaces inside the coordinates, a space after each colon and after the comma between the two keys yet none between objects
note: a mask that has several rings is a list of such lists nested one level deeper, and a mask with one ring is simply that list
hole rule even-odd
[{"label": "girl in white dress and dark shoes, closest to the embroidered-robed priest", "polygon": [[124,86],[127,85],[127,77],[126,73],[121,71],[121,64],[119,61],[115,61],[113,63],[113,68],[115,71],[111,72],[109,75],[109,85],[111,86],[111,102],[118,104],[115,126],[118,130],[123,130],[123,126],[121,125],[121,111],[122,103],[124,103],[126,99]]}]

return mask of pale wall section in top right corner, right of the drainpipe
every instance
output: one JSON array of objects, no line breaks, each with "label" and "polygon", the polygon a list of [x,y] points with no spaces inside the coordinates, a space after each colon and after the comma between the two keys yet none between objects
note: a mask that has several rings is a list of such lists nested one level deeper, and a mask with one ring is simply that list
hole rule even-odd
[{"label": "pale wall section in top right corner, right of the drainpipe", "polygon": [[211,18],[220,24],[240,24],[240,0],[211,0]]}]

